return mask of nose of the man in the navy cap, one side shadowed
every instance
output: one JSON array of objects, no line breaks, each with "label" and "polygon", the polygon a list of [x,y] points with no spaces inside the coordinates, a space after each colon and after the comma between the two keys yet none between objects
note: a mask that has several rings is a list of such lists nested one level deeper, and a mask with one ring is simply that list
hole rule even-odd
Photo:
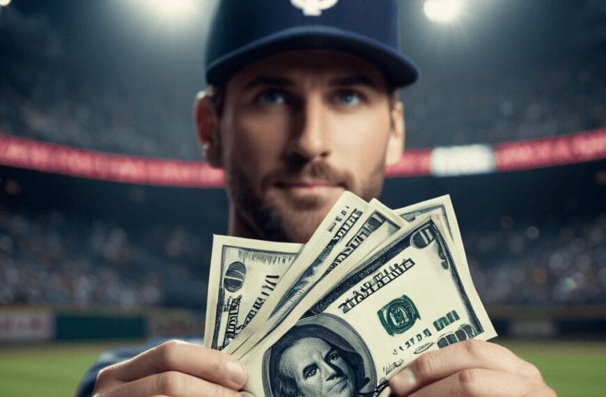
[{"label": "nose of the man in the navy cap, one side shadowed", "polygon": [[319,95],[305,98],[294,121],[288,145],[290,155],[306,161],[329,155],[329,113]]}]

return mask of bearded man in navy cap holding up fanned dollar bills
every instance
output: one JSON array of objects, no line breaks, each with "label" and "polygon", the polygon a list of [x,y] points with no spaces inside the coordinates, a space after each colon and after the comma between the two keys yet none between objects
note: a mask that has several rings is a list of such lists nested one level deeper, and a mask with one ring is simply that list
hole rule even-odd
[{"label": "bearded man in navy cap holding up fanned dollar bills", "polygon": [[[398,52],[396,15],[389,0],[220,3],[195,117],[205,157],[225,170],[229,233],[306,242],[343,191],[380,194],[403,148],[397,90],[417,78]],[[169,341],[104,368],[94,392],[237,396],[245,382],[232,357]],[[398,396],[554,395],[534,366],[480,341],[429,352],[390,386]]]}]

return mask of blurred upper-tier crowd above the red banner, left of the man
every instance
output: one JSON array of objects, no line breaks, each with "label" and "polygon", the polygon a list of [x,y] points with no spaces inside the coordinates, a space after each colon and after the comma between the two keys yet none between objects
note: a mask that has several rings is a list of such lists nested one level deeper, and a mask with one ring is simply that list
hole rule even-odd
[{"label": "blurred upper-tier crowd above the red banner, left of the man", "polygon": [[43,17],[0,14],[0,133],[78,148],[199,159],[191,120],[167,93],[137,91],[93,72],[76,77],[61,35]]}]

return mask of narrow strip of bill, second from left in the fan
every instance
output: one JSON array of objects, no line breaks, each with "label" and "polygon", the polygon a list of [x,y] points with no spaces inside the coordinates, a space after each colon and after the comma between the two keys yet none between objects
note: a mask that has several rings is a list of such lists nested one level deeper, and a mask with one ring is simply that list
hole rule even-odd
[{"label": "narrow strip of bill, second from left in the fan", "polygon": [[350,192],[343,192],[339,197],[339,200],[332,206],[328,215],[323,219],[322,223],[316,231],[313,233],[309,241],[304,245],[303,249],[297,255],[297,258],[293,261],[289,271],[284,274],[282,282],[277,286],[276,290],[272,292],[272,295],[267,298],[267,301],[263,303],[261,309],[259,309],[254,319],[242,329],[237,339],[232,341],[224,350],[229,355],[233,355],[238,358],[238,354],[235,353],[240,345],[247,341],[247,339],[254,334],[258,329],[263,329],[266,326],[266,320],[270,317],[274,307],[277,306],[283,295],[288,293],[287,288],[281,288],[283,283],[286,286],[293,285],[297,279],[304,277],[304,271],[306,267],[297,265],[297,263],[309,263],[309,262],[322,262],[331,254],[336,244],[343,240],[343,236],[350,230],[353,224],[364,215],[364,210],[368,203],[359,198],[355,194]]}]

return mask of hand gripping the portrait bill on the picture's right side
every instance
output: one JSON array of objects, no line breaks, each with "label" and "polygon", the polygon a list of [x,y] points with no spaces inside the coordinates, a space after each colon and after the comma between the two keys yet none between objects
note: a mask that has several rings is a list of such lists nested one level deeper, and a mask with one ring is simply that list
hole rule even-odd
[{"label": "hand gripping the portrait bill on the picture's right side", "polygon": [[495,343],[427,352],[389,381],[396,396],[556,396],[536,366]]}]

